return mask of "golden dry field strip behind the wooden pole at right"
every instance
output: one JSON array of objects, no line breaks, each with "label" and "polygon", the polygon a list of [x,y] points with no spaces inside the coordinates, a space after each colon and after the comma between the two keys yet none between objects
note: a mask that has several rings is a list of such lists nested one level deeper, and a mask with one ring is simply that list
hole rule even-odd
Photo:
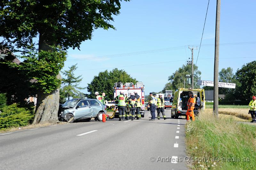
[{"label": "golden dry field strip behind the wooden pole at right", "polygon": [[[212,112],[212,109],[205,109],[206,112]],[[252,120],[248,114],[248,108],[219,108],[219,114],[232,115],[243,120]]]}]

